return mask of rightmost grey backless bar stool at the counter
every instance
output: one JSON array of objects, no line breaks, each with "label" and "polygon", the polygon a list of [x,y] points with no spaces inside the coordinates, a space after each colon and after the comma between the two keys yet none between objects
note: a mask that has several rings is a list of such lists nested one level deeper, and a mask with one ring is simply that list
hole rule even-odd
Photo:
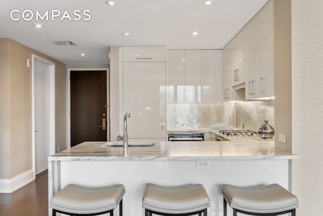
[{"label": "rightmost grey backless bar stool at the counter", "polygon": [[292,212],[298,207],[295,195],[278,184],[260,187],[237,187],[222,185],[224,216],[227,215],[227,202],[233,208],[233,215],[237,212],[249,215],[276,216]]}]

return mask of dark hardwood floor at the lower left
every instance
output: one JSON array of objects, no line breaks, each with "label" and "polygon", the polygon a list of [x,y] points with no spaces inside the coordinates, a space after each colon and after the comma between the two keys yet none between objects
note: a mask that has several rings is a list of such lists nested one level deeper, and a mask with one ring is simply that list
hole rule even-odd
[{"label": "dark hardwood floor at the lower left", "polygon": [[11,194],[0,194],[0,216],[48,216],[48,174]]}]

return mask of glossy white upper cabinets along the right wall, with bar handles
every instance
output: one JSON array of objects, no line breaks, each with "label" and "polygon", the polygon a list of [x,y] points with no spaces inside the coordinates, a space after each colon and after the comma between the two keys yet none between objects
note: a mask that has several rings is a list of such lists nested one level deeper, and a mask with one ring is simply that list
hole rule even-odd
[{"label": "glossy white upper cabinets along the right wall, with bar handles", "polygon": [[243,83],[247,100],[274,96],[273,17],[274,3],[269,1],[224,47],[223,101],[235,100],[228,99],[228,91]]}]

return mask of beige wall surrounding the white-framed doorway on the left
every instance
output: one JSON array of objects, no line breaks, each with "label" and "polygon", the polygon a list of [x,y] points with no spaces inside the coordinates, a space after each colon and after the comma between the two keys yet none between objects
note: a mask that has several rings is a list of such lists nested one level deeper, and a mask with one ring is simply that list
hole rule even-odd
[{"label": "beige wall surrounding the white-framed doorway on the left", "polygon": [[[10,174],[0,176],[0,179],[8,179],[32,169],[32,70],[26,65],[27,59],[32,59],[32,54],[35,54],[56,64],[56,142],[57,145],[65,147],[66,65],[14,40],[5,38],[1,39],[0,43],[8,44],[8,54],[5,54],[8,58],[8,68],[2,69],[1,72],[1,77],[4,78],[6,73],[8,74],[7,81],[4,81],[4,86],[8,86],[8,100],[7,103],[2,103],[0,109],[7,110],[9,121],[9,125],[6,121],[1,121],[0,128],[4,129],[1,131],[9,133],[9,139],[2,143],[2,146],[10,150],[2,155],[9,158],[10,162],[1,163],[0,167],[0,170],[9,169]],[[0,139],[3,142],[3,138]]]}]

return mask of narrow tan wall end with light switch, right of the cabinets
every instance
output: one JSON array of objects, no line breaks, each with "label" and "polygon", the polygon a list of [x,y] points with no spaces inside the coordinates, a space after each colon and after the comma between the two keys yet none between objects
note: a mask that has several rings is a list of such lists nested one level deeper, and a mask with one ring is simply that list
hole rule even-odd
[{"label": "narrow tan wall end with light switch, right of the cabinets", "polygon": [[[275,146],[292,150],[291,0],[274,1]],[[286,135],[286,143],[278,142]]]}]

